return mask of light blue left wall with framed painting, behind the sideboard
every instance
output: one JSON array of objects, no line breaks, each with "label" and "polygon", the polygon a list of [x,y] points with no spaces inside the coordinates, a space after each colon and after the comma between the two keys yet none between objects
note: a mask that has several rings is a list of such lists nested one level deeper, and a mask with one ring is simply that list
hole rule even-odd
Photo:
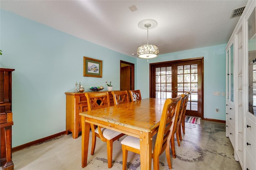
[{"label": "light blue left wall with framed painting, behind the sideboard", "polygon": [[[64,93],[74,91],[76,81],[86,89],[112,81],[119,90],[120,60],[136,66],[136,58],[16,14],[0,10],[0,19],[0,67],[15,69],[12,147],[66,130]],[[102,60],[102,78],[83,77],[83,56]]]}]

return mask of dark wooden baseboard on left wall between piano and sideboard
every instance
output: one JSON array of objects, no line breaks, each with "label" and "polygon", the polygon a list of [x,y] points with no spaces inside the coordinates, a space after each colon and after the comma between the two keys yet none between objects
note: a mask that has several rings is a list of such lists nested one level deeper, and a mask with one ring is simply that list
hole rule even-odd
[{"label": "dark wooden baseboard on left wall between piano and sideboard", "polygon": [[66,134],[66,131],[60,132],[60,133],[57,133],[57,134],[53,134],[51,136],[47,136],[45,138],[41,138],[41,139],[38,139],[38,140],[34,140],[32,142],[28,142],[28,143],[22,144],[20,146],[16,146],[16,147],[12,148],[12,152],[16,152],[18,150],[22,150],[22,149],[28,148],[28,147],[33,146],[35,144],[40,144],[42,142],[46,142],[47,140],[51,140],[53,138],[60,137],[60,136],[62,136],[64,134]]}]

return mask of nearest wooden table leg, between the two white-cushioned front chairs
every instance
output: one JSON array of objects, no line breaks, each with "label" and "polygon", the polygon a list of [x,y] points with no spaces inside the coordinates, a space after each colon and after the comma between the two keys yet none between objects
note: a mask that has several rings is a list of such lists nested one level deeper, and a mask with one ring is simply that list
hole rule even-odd
[{"label": "nearest wooden table leg, between the two white-cushioned front chairs", "polygon": [[151,170],[152,136],[151,132],[140,132],[140,169]]}]

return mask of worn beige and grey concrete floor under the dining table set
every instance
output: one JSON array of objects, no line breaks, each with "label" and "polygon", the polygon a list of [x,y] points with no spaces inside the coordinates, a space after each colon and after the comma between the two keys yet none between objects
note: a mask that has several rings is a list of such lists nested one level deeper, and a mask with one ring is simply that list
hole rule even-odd
[{"label": "worn beige and grey concrete floor under the dining table set", "polygon": [[[201,120],[201,125],[186,123],[186,134],[178,146],[173,170],[241,170],[234,160],[234,150],[225,136],[225,123]],[[122,140],[122,138],[120,139]],[[91,144],[91,136],[90,136]],[[89,144],[89,150],[91,146]],[[97,138],[94,155],[81,167],[81,135],[71,134],[12,153],[15,170],[107,170],[106,143]],[[140,170],[140,156],[128,152],[127,170]],[[165,153],[160,156],[160,170],[168,170]],[[114,142],[112,170],[122,169],[120,141]]]}]

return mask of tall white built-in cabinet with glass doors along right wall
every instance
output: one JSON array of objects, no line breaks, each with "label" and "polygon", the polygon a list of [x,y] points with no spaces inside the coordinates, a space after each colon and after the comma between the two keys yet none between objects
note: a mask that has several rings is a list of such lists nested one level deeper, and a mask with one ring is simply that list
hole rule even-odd
[{"label": "tall white built-in cabinet with glass doors along right wall", "polygon": [[226,136],[243,170],[256,167],[255,7],[248,1],[226,47]]}]

